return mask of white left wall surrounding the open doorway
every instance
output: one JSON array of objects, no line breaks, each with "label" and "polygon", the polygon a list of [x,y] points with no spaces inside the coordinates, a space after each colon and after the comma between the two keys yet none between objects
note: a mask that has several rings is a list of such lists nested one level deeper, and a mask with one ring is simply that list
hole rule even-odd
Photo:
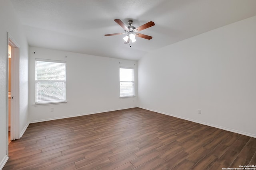
[{"label": "white left wall surrounding the open doorway", "polygon": [[0,169],[7,158],[8,34],[20,45],[20,133],[28,123],[28,43],[9,0],[0,2]]}]

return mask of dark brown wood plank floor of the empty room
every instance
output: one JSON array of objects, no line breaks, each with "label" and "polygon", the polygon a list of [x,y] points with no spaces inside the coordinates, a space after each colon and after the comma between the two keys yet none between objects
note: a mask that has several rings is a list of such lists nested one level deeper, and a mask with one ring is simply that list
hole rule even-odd
[{"label": "dark brown wood plank floor of the empty room", "polygon": [[256,164],[256,139],[140,108],[28,126],[3,170],[221,170]]}]

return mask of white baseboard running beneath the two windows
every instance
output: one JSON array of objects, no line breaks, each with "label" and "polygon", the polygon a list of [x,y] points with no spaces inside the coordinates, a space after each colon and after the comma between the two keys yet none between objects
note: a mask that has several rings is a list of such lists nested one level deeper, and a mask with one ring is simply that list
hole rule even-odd
[{"label": "white baseboard running beneath the two windows", "polygon": [[[137,106],[136,106],[136,107],[137,107]],[[65,118],[70,118],[70,117],[78,117],[78,116],[84,116],[84,115],[92,115],[92,114],[104,113],[104,112],[108,112],[108,111],[117,111],[117,110],[131,109],[131,108],[135,108],[135,107],[125,107],[125,108],[119,108],[119,109],[104,110],[104,111],[99,111],[99,112],[82,113],[82,114],[78,114],[78,115],[54,117],[54,118],[50,118],[50,119],[41,119],[41,120],[30,121],[29,123],[38,123],[38,122],[43,122],[43,121],[51,121],[51,120],[57,120],[57,119],[65,119]]]}]

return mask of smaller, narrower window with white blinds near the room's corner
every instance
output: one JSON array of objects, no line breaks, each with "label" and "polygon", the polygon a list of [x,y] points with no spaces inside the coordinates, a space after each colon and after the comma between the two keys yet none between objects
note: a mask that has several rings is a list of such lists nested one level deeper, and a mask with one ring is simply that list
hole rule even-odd
[{"label": "smaller, narrower window with white blinds near the room's corner", "polygon": [[134,68],[120,68],[120,97],[132,97],[134,93]]}]

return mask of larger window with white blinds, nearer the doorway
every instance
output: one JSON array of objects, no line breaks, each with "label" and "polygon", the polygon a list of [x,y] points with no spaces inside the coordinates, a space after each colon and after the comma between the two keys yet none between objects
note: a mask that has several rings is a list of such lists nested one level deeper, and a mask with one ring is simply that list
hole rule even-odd
[{"label": "larger window with white blinds, nearer the doorway", "polygon": [[35,104],[66,102],[66,61],[36,59]]}]

